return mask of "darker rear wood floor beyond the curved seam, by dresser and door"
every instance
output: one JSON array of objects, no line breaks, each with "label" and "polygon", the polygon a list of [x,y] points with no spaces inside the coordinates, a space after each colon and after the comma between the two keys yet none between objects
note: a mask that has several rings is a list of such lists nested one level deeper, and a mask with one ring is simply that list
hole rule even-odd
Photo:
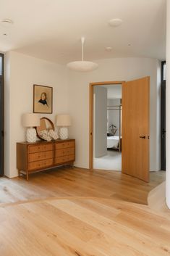
[{"label": "darker rear wood floor beyond the curved seam, by dresser and door", "polygon": [[0,178],[0,204],[48,197],[102,197],[146,205],[148,193],[165,180],[165,172],[150,173],[150,183],[109,170],[59,168],[25,178]]}]

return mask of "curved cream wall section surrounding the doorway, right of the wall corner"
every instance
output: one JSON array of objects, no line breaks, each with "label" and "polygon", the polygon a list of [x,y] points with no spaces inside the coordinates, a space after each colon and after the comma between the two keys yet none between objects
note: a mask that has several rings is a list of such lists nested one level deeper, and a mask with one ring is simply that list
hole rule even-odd
[{"label": "curved cream wall section surrounding the doorway, right of the wall corner", "polygon": [[[157,59],[115,58],[98,60],[98,70],[77,73],[68,70],[70,134],[76,139],[75,165],[89,167],[89,83],[114,80],[134,80],[150,76],[150,170],[160,170],[160,141],[157,136],[158,78]],[[158,159],[158,160],[157,160]]]}]

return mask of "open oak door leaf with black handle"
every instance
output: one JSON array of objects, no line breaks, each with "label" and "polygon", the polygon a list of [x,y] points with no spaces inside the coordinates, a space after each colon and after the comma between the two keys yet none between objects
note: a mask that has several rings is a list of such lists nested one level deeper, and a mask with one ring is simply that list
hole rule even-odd
[{"label": "open oak door leaf with black handle", "polygon": [[150,78],[122,86],[122,173],[149,181]]}]

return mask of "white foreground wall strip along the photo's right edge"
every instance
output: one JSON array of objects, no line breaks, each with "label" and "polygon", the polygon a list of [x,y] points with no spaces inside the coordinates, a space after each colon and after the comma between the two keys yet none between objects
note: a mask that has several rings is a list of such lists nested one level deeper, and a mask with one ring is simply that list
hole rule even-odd
[{"label": "white foreground wall strip along the photo's right edge", "polygon": [[170,209],[170,2],[166,15],[166,204]]}]

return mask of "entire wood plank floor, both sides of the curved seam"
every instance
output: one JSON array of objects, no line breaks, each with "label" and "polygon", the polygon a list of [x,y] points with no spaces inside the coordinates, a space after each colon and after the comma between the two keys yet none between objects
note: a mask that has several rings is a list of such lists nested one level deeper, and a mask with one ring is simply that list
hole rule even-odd
[{"label": "entire wood plank floor, both sides of the curved seam", "polygon": [[[146,205],[150,183],[80,168],[0,178],[3,256],[170,255],[170,214]],[[142,205],[143,204],[143,205]]]}]

